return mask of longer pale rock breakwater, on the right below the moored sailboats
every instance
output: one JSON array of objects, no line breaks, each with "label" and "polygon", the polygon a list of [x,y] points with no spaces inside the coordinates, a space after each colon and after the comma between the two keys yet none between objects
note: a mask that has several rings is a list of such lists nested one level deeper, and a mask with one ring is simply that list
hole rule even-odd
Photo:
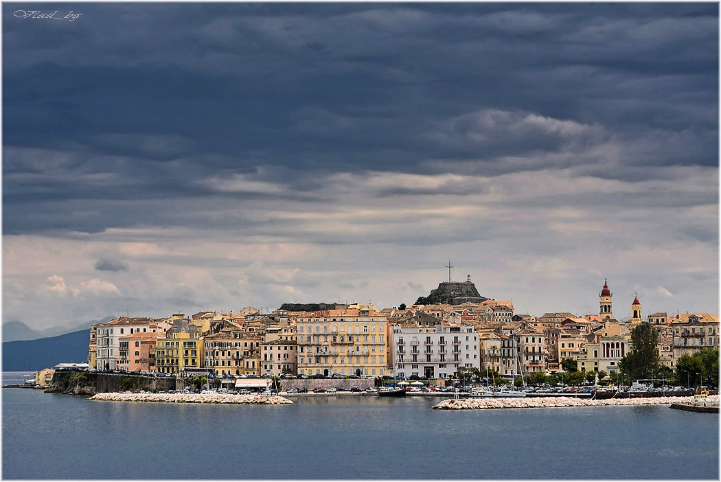
[{"label": "longer pale rock breakwater, on the right below the moored sailboats", "polygon": [[[718,401],[719,396],[711,396]],[[482,409],[546,409],[565,406],[611,406],[611,405],[670,405],[671,403],[691,403],[691,397],[656,398],[608,398],[589,400],[585,398],[459,398],[443,400],[433,406],[436,410],[482,410]]]}]

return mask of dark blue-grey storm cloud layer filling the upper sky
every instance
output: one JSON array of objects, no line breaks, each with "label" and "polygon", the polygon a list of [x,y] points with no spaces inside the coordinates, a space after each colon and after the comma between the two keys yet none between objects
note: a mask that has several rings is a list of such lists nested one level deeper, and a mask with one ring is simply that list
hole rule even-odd
[{"label": "dark blue-grey storm cloud layer filling the upper sky", "polygon": [[3,5],[8,233],[212,226],[172,200],[337,171],[718,162],[714,4],[33,5],[83,16]]}]

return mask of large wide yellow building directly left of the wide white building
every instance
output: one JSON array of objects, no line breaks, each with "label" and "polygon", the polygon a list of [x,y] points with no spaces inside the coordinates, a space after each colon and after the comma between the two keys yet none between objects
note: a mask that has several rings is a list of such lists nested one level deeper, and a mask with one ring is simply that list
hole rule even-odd
[{"label": "large wide yellow building directly left of the wide white building", "polygon": [[373,305],[298,314],[298,374],[389,373],[389,326]]}]

